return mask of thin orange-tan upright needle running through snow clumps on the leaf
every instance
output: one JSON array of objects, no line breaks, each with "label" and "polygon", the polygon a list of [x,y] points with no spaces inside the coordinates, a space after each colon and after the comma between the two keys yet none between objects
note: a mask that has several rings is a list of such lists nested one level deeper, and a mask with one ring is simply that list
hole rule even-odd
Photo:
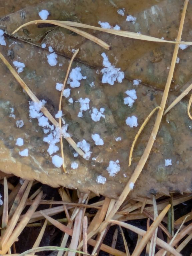
[{"label": "thin orange-tan upright needle running through snow clumps on the leaf", "polygon": [[[63,90],[65,89],[65,85],[66,85],[66,82],[67,82],[69,71],[71,69],[71,65],[73,63],[73,60],[76,57],[78,52],[79,52],[79,49],[77,49],[75,51],[75,53],[73,54],[73,57],[71,58],[71,60],[69,62],[69,66],[68,66],[68,69],[67,69],[67,73],[65,75],[65,80],[63,82],[63,87],[62,87],[61,95],[60,95],[60,99],[59,99],[59,111],[61,111],[61,101],[62,101],[62,98],[63,98]],[[61,129],[61,117],[59,118],[59,127]],[[62,134],[60,135],[60,144],[61,144],[61,156],[63,158],[63,170],[64,170],[64,172],[66,172],[66,169],[65,169],[65,159],[64,159],[64,153],[63,153],[63,136],[62,136]]]}]

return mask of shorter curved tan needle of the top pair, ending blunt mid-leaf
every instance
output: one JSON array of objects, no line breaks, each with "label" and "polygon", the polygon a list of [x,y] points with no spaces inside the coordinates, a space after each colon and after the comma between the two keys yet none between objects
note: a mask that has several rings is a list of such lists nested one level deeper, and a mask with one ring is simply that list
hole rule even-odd
[{"label": "shorter curved tan needle of the top pair, ending blunt mid-leaf", "polygon": [[73,27],[70,27],[67,25],[67,22],[64,24],[64,23],[60,23],[59,21],[57,20],[33,20],[33,21],[30,21],[30,22],[27,22],[23,25],[21,25],[19,28],[17,28],[13,34],[15,34],[18,30],[20,30],[21,28],[25,27],[25,26],[28,26],[28,25],[32,25],[32,24],[42,24],[42,23],[48,23],[48,24],[53,24],[53,25],[56,25],[56,26],[60,26],[60,27],[63,27],[63,28],[66,28],[66,29],[69,29],[77,34],[79,34],[80,36],[83,36],[91,41],[93,41],[94,43],[100,45],[101,47],[105,48],[106,50],[109,50],[110,46],[108,44],[106,44],[104,41],[102,41],[101,39],[85,32],[85,31],[82,31],[80,29],[77,29],[77,28],[73,28]]}]

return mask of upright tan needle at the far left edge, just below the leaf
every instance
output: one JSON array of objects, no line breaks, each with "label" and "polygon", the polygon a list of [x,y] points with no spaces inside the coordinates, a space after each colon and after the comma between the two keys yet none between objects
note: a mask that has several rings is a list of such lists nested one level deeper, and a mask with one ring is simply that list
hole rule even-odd
[{"label": "upright tan needle at the far left edge, just below the leaf", "polygon": [[1,236],[4,233],[4,229],[7,226],[8,222],[8,203],[9,203],[9,193],[8,193],[8,186],[7,186],[7,178],[4,178],[4,202],[3,202],[3,215],[2,215],[2,225],[1,225]]}]

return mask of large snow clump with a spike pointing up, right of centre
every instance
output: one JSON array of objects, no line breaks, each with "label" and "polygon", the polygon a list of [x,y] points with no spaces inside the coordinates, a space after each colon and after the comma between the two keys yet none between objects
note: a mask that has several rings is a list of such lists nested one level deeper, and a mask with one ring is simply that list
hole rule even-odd
[{"label": "large snow clump with a spike pointing up, right of centre", "polygon": [[101,56],[103,57],[103,66],[105,67],[101,70],[101,73],[103,74],[102,83],[114,85],[116,80],[118,83],[121,83],[124,78],[124,72],[120,71],[120,68],[112,66],[105,53],[102,53]]}]

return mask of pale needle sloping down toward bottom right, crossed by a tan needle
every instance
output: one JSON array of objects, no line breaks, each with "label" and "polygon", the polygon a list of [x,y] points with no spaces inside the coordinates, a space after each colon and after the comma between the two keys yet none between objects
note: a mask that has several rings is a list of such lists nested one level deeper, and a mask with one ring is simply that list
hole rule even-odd
[{"label": "pale needle sloping down toward bottom right, crossed by a tan needle", "polygon": [[[116,224],[116,225],[120,225],[121,227],[127,228],[137,234],[139,234],[140,236],[144,236],[147,231],[137,228],[133,225],[130,225],[128,223],[124,223],[122,221],[118,221],[118,220],[109,220],[111,223]],[[156,244],[164,249],[166,249],[167,251],[169,251],[170,253],[172,253],[175,256],[182,256],[180,253],[178,253],[172,246],[170,246],[169,244],[167,244],[166,242],[164,242],[163,240],[157,238]],[[138,247],[138,244],[137,244]]]}]

